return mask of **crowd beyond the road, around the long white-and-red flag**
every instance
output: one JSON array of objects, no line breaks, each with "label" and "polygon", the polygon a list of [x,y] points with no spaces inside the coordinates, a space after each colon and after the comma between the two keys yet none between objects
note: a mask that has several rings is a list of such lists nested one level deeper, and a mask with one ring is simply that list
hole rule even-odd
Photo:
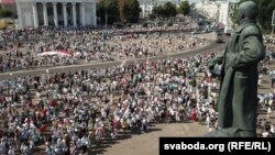
[{"label": "crowd beyond the road, around the long white-and-red flag", "polygon": [[205,38],[186,36],[183,32],[170,34],[148,29],[141,33],[142,27],[135,26],[135,31],[113,29],[108,33],[95,27],[4,31],[0,44],[0,71],[155,56],[207,44]]}]

